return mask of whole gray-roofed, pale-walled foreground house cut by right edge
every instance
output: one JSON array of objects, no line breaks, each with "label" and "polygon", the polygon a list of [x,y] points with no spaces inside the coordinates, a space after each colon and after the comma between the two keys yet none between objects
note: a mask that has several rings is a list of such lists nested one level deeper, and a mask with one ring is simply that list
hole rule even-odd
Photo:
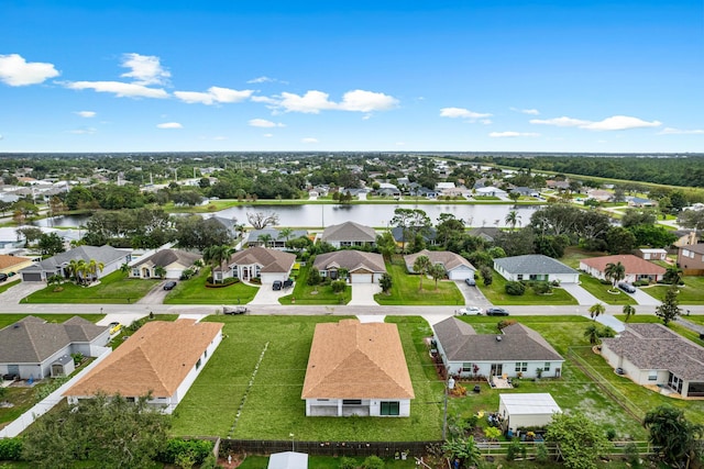
[{"label": "whole gray-roofed, pale-walled foreground house cut by right edge", "polygon": [[704,398],[704,347],[662,324],[626,324],[618,337],[602,339],[602,356],[638,384]]}]

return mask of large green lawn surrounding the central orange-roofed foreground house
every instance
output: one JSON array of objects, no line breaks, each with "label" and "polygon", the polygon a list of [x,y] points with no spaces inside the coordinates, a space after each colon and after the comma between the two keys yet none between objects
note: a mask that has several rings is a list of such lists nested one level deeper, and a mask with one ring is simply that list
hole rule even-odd
[{"label": "large green lawn surrounding the central orange-roofed foreground house", "polygon": [[[175,435],[300,440],[418,440],[441,433],[442,383],[433,373],[420,317],[399,317],[416,399],[409,418],[306,417],[300,399],[315,325],[342,316],[210,316],[227,337],[175,413]],[[267,345],[268,344],[268,345]],[[266,351],[264,351],[266,347]],[[257,362],[258,370],[249,388]],[[248,392],[249,390],[249,392]],[[242,413],[237,426],[241,403]]]}]

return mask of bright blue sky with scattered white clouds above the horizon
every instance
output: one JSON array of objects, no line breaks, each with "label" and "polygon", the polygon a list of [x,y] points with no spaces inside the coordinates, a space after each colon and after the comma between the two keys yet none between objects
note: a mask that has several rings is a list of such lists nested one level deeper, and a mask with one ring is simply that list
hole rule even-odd
[{"label": "bright blue sky with scattered white clouds above the horizon", "polygon": [[0,153],[704,152],[701,0],[4,0],[0,32]]}]

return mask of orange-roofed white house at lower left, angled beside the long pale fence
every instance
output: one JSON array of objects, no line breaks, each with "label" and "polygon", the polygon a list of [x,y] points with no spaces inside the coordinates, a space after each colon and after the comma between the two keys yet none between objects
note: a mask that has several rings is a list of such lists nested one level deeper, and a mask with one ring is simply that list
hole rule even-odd
[{"label": "orange-roofed white house at lower left, angled beside the long pale fence", "polygon": [[76,403],[98,392],[128,400],[151,392],[148,404],[170,414],[220,345],[222,326],[195,320],[147,322],[64,395]]}]

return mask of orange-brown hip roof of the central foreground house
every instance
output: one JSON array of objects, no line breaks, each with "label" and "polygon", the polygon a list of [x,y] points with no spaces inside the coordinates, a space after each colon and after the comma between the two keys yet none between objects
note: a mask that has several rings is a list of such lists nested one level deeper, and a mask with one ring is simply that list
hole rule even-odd
[{"label": "orange-brown hip roof of the central foreground house", "polygon": [[414,399],[396,324],[316,326],[302,399]]}]

